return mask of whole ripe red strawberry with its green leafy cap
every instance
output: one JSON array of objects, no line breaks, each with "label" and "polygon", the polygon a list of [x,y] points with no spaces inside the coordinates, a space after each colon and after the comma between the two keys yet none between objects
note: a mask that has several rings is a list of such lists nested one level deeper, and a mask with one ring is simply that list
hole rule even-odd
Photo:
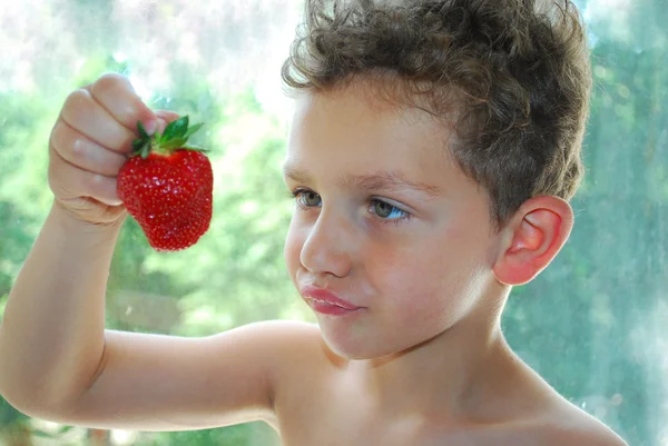
[{"label": "whole ripe red strawberry with its green leafy cap", "polygon": [[204,149],[187,145],[202,123],[188,127],[185,116],[161,136],[147,135],[141,122],[137,127],[141,138],[118,172],[118,196],[154,249],[188,248],[208,230],[213,210],[212,165]]}]

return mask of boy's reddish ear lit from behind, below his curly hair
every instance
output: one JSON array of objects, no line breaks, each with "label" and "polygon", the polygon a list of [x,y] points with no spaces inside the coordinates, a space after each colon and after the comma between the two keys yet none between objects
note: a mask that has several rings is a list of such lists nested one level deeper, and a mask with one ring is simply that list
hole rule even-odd
[{"label": "boy's reddish ear lit from behind, below his curly hair", "polygon": [[493,271],[505,285],[531,281],[557,256],[573,227],[570,205],[558,197],[527,200],[502,229],[499,258]]}]

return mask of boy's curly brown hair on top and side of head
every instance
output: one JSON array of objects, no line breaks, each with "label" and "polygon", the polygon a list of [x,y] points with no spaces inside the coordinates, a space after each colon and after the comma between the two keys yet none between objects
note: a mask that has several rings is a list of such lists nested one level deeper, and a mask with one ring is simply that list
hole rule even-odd
[{"label": "boy's curly brown hair on top and side of head", "polygon": [[305,2],[282,69],[288,90],[361,81],[449,122],[448,147],[488,191],[498,228],[531,197],[574,195],[591,70],[572,2]]}]

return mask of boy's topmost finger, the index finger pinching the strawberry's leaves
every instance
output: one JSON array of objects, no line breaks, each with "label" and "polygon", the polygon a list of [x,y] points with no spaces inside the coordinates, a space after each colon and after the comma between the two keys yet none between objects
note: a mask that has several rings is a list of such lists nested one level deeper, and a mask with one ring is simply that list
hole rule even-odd
[{"label": "boy's topmost finger, the index finger pinching the strawberry's leaves", "polygon": [[135,92],[130,81],[117,73],[101,76],[89,88],[90,95],[118,122],[137,135],[137,121],[151,133],[156,127],[156,116]]}]

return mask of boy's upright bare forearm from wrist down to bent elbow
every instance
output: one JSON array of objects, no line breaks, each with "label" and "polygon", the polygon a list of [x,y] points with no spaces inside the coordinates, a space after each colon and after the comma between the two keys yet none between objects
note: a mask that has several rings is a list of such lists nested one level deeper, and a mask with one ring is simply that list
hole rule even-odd
[{"label": "boy's upright bare forearm from wrist down to bent elbow", "polygon": [[0,325],[0,393],[9,403],[26,412],[59,407],[95,375],[121,221],[86,224],[53,204]]}]

